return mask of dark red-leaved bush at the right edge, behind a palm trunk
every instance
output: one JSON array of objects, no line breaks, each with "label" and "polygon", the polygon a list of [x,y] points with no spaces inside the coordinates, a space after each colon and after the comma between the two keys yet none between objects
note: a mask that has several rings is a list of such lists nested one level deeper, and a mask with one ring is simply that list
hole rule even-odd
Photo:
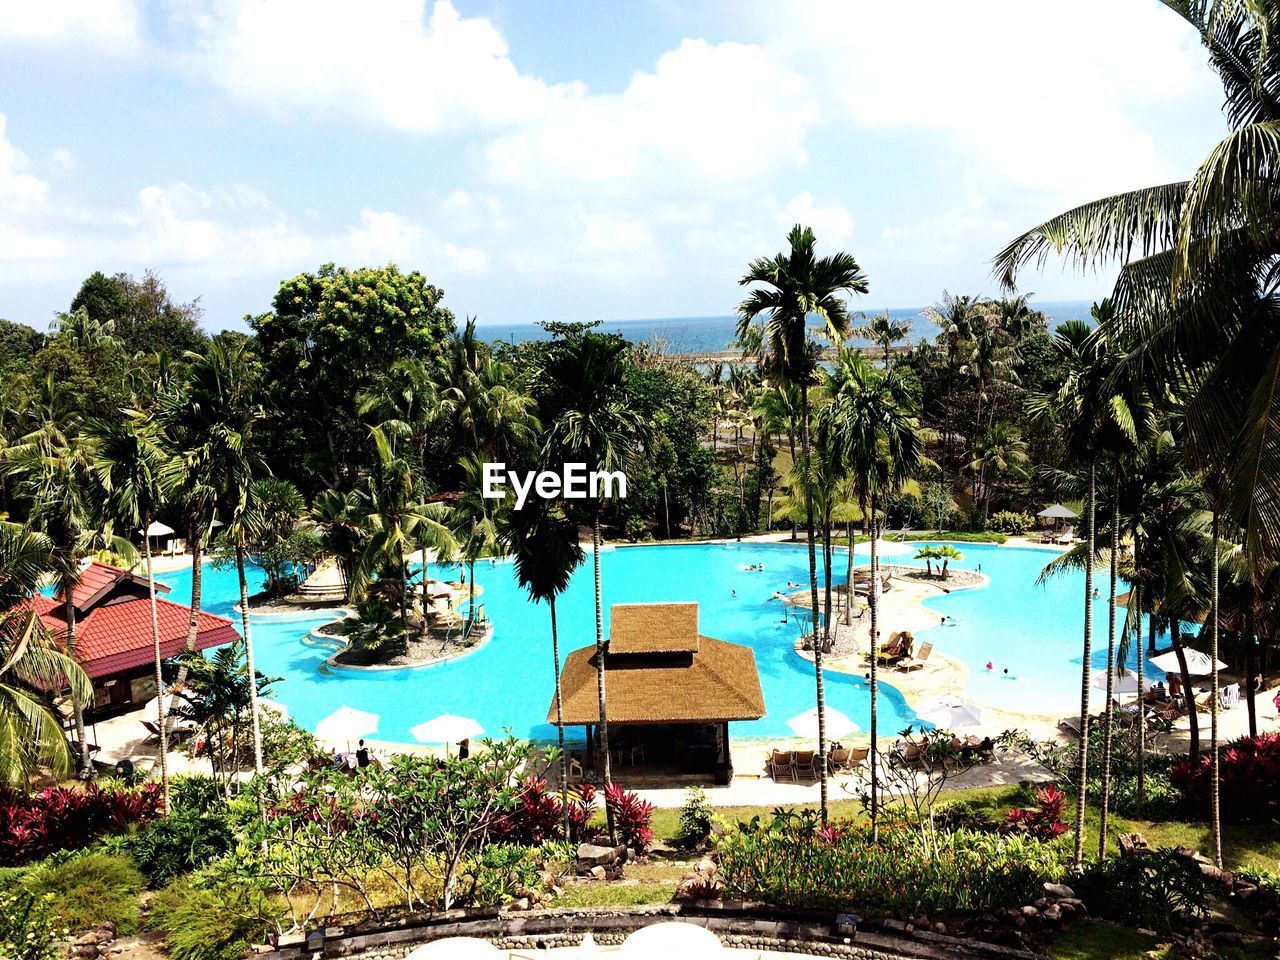
[{"label": "dark red-leaved bush at the right edge, behind a palm trunk", "polygon": [[[1187,809],[1198,817],[1210,813],[1208,755],[1199,763],[1183,762],[1169,772]],[[1219,753],[1219,797],[1224,820],[1271,820],[1280,814],[1280,733],[1242,737]]]}]

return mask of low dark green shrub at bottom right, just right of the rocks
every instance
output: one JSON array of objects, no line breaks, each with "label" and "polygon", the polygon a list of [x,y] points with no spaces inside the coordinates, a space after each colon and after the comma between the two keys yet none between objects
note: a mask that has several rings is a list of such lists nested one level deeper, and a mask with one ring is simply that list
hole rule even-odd
[{"label": "low dark green shrub at bottom right, just right of the rocks", "polygon": [[1167,932],[1208,913],[1212,882],[1189,856],[1161,847],[1092,863],[1075,890],[1098,916]]}]

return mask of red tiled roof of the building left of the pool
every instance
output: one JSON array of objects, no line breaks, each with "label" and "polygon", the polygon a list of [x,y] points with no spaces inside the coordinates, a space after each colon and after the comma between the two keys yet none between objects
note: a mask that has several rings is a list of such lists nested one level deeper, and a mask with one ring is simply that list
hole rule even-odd
[{"label": "red tiled roof of the building left of the pool", "polygon": [[[106,564],[95,563],[86,573],[102,566]],[[108,567],[108,570],[115,568]],[[145,579],[142,581],[146,582]],[[84,576],[81,577],[81,582],[84,582]],[[116,591],[108,589],[104,593],[101,585],[105,582],[110,588],[111,581],[104,581],[101,575],[95,572],[95,582],[100,584],[97,593],[101,595],[83,616],[76,617],[76,660],[91,678],[120,673],[151,663],[155,658],[155,646],[151,636],[150,599],[143,595],[118,598],[115,602],[108,603],[106,600]],[[118,584],[119,577],[114,582]],[[76,594],[77,591],[73,590],[72,596],[74,598]],[[35,596],[24,605],[35,608],[45,626],[55,636],[65,640],[67,608],[61,602],[47,596]],[[187,644],[191,608],[157,596],[156,613],[160,622],[160,655],[165,659],[175,657]],[[215,617],[212,613],[201,611],[197,626],[197,650],[220,646],[239,639],[236,627],[225,617]]]}]

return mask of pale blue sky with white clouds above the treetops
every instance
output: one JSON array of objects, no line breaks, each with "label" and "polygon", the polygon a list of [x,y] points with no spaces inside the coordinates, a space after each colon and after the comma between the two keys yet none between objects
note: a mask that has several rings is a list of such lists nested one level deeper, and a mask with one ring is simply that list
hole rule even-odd
[{"label": "pale blue sky with white clouds above the treetops", "polygon": [[723,315],[794,223],[859,308],[995,293],[1028,227],[1189,177],[1221,100],[1156,0],[0,0],[0,317],[151,269],[239,328],[330,261],[481,324]]}]

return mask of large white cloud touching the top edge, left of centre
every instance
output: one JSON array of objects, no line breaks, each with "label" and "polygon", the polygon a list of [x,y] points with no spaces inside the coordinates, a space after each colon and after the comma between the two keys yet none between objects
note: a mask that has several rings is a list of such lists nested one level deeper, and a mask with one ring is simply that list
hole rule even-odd
[{"label": "large white cloud touching the top edge, left of centre", "polygon": [[511,123],[544,95],[449,0],[211,0],[193,23],[200,67],[253,105],[438,132]]}]

